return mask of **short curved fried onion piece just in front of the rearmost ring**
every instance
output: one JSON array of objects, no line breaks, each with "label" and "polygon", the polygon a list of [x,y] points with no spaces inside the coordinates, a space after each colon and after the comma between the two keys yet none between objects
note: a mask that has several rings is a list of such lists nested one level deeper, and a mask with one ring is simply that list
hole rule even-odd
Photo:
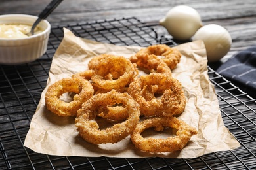
[{"label": "short curved fried onion piece just in front of the rearmost ring", "polygon": [[171,75],[171,69],[158,56],[154,54],[140,54],[131,56],[130,61],[140,68],[147,69],[151,73],[165,73]]}]

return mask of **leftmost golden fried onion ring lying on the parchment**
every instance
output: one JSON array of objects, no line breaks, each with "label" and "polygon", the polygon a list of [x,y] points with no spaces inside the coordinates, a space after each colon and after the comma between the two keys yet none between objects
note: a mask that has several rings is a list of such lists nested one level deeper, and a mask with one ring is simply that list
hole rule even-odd
[{"label": "leftmost golden fried onion ring lying on the parchment", "polygon": [[[64,93],[74,92],[73,101],[60,100]],[[63,78],[58,80],[45,93],[45,105],[47,109],[58,116],[75,116],[82,103],[93,96],[93,86],[82,78]]]}]

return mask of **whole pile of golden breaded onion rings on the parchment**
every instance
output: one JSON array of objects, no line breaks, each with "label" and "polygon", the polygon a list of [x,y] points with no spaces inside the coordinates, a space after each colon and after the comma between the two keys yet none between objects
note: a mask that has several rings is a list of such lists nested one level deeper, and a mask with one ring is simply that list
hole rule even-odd
[{"label": "whole pile of golden breaded onion rings on the parchment", "polygon": [[[180,58],[179,51],[166,45],[148,46],[129,59],[96,56],[89,61],[88,70],[49,86],[47,109],[59,116],[76,116],[77,131],[89,143],[117,143],[131,135],[135,147],[146,152],[181,150],[197,131],[173,117],[186,106],[181,83],[171,73]],[[149,74],[138,76],[137,67]],[[70,103],[60,100],[66,92],[77,93]],[[139,122],[140,115],[147,119]],[[96,116],[119,123],[100,129]],[[144,139],[140,133],[149,127],[177,129],[176,137]]]}]

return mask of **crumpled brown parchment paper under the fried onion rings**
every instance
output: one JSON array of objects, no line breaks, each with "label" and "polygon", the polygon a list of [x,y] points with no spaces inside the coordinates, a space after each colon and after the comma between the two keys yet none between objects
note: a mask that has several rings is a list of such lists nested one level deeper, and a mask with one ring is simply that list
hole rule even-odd
[{"label": "crumpled brown parchment paper under the fried onion rings", "polygon": [[64,39],[53,57],[47,86],[35,111],[24,146],[35,152],[57,156],[109,156],[144,158],[195,158],[211,152],[232,150],[240,143],[223,124],[213,84],[207,75],[207,57],[202,41],[176,46],[182,53],[173,76],[182,83],[187,105],[179,119],[198,129],[181,152],[150,154],[141,152],[129,137],[115,144],[90,144],[79,137],[75,118],[63,118],[45,107],[45,92],[50,84],[87,69],[88,61],[98,54],[116,54],[129,58],[141,47],[115,46],[76,37],[64,28]]}]

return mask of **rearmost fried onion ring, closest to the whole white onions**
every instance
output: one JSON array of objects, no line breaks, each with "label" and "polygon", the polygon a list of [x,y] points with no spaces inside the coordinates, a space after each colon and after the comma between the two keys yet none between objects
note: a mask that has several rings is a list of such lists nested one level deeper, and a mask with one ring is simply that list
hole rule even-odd
[{"label": "rearmost fried onion ring, closest to the whole white onions", "polygon": [[181,52],[165,44],[157,44],[148,46],[147,48],[142,48],[139,50],[139,52],[137,52],[137,54],[135,54],[135,56],[144,56],[144,54],[154,54],[156,56],[161,56],[161,59],[163,59],[163,61],[171,70],[175,69],[181,60]]}]

